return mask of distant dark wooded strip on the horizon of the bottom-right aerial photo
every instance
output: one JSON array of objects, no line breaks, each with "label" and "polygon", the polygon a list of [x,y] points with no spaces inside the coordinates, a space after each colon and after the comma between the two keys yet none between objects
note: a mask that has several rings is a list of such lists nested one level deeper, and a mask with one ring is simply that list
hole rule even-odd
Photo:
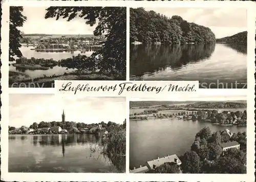
[{"label": "distant dark wooded strip on the horizon of the bottom-right aerial photo", "polygon": [[196,102],[193,104],[187,104],[186,107],[208,108],[208,109],[246,108],[246,103],[242,103],[242,102]]}]

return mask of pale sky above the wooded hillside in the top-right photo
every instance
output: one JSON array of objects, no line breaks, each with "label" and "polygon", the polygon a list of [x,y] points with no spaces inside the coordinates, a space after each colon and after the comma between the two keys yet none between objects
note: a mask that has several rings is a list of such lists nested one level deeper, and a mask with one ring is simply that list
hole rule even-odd
[{"label": "pale sky above the wooded hillside in the top-right photo", "polygon": [[145,8],[167,17],[179,15],[188,22],[195,22],[211,29],[216,38],[247,30],[247,12],[243,8]]}]

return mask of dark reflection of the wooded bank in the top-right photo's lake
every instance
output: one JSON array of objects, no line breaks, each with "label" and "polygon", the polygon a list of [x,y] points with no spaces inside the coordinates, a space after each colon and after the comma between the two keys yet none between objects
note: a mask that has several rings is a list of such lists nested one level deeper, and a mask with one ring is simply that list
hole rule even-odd
[{"label": "dark reflection of the wooded bank in the top-right photo's lake", "polygon": [[188,63],[193,64],[209,58],[214,50],[214,43],[130,45],[130,73],[131,75],[142,76],[145,73],[164,71],[167,67],[177,71]]}]

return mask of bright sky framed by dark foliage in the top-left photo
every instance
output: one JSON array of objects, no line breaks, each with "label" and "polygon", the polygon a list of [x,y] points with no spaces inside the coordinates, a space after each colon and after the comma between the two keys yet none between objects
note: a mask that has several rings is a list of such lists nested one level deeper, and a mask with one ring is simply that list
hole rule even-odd
[{"label": "bright sky framed by dark foliage in the top-left photo", "polygon": [[23,15],[27,16],[23,27],[19,30],[25,34],[93,34],[94,26],[86,25],[83,18],[77,17],[70,21],[59,18],[45,19],[48,7],[24,7]]}]

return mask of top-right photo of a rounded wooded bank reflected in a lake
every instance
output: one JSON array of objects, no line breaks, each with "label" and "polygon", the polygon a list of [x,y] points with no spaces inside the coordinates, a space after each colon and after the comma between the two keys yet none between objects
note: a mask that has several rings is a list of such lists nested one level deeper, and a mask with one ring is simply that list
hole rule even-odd
[{"label": "top-right photo of a rounded wooded bank reflected in a lake", "polygon": [[247,10],[131,8],[130,80],[247,88]]}]

